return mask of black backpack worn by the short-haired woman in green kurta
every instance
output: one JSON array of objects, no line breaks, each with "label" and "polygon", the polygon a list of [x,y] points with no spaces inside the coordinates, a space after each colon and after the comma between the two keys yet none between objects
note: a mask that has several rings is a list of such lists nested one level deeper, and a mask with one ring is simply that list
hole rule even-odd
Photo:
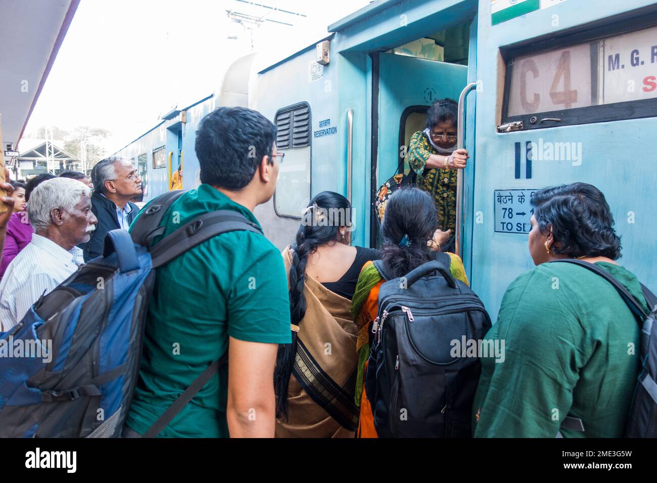
[{"label": "black backpack worn by the short-haired woman in green kurta", "polygon": [[[639,379],[627,425],[625,425],[625,438],[657,438],[657,384],[655,383],[655,380],[657,380],[657,296],[650,292],[648,287],[641,284],[641,290],[646,302],[648,302],[648,307],[652,308],[650,313],[646,313],[643,304],[639,303],[627,288],[605,269],[589,264],[589,262],[570,258],[555,260],[553,263],[556,262],[579,265],[600,275],[616,288],[629,310],[639,320],[641,327],[641,334],[639,334],[641,370],[639,371]],[[585,431],[581,419],[570,416],[564,419],[561,428]],[[559,437],[561,437],[560,433],[557,434],[557,438]]]}]

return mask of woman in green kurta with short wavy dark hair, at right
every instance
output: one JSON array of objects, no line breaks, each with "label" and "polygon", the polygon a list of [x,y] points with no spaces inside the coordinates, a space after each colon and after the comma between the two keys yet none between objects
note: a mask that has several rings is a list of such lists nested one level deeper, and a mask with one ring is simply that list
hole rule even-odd
[{"label": "woman in green kurta with short wavy dark hair, at right", "polygon": [[[482,357],[474,399],[475,437],[568,438],[623,435],[639,371],[639,323],[597,264],[645,303],[637,277],[614,262],[620,239],[604,195],[585,183],[532,198],[534,269],[507,289],[487,340],[504,341],[500,360]],[[647,308],[647,304],[646,304]],[[564,417],[584,430],[561,428]]]}]

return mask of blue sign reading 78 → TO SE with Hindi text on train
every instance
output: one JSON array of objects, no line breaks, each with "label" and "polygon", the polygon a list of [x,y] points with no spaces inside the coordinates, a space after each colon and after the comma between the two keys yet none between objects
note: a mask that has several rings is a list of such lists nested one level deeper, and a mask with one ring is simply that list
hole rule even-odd
[{"label": "blue sign reading 78 \u2192 TO SE with Hindi text on train", "polygon": [[497,233],[530,233],[534,209],[530,201],[537,188],[496,189],[493,191],[495,206],[495,231]]}]

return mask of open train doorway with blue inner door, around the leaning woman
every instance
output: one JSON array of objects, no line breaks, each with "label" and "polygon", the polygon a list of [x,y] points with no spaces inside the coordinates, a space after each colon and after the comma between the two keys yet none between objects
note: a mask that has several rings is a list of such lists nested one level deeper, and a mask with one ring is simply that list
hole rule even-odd
[{"label": "open train doorway with blue inner door, around the leaning woman", "polygon": [[[370,54],[373,66],[371,246],[378,246],[381,242],[380,214],[374,208],[378,189],[393,175],[410,172],[409,142],[415,133],[426,128],[427,111],[432,103],[441,99],[458,103],[461,92],[468,85],[471,23],[464,22],[399,47]],[[472,28],[476,29],[474,25]],[[472,65],[475,63],[473,58]],[[474,129],[469,132],[474,133]],[[472,160],[472,153],[468,154]],[[445,180],[445,185],[455,187],[455,172],[437,172],[439,175],[432,172],[434,178],[438,176]],[[424,170],[424,175],[428,174],[429,170]],[[447,188],[432,195],[439,212],[440,228],[451,228],[454,234],[457,203],[463,204],[463,200],[457,200],[451,191],[444,191]]]}]

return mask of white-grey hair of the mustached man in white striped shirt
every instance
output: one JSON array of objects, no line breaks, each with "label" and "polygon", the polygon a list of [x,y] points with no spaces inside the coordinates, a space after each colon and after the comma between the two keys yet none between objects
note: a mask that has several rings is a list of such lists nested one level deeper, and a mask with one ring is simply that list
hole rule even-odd
[{"label": "white-grey hair of the mustached man in white striped shirt", "polygon": [[55,208],[70,213],[80,202],[80,196],[89,196],[90,192],[87,185],[76,179],[57,177],[43,181],[32,191],[28,203],[28,217],[34,231],[47,228],[53,223],[50,213]]}]

